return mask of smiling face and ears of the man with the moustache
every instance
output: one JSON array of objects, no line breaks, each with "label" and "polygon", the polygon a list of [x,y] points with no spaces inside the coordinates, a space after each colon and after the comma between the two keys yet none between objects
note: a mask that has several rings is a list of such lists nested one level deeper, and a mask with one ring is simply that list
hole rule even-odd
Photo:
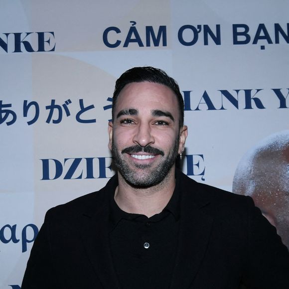
[{"label": "smiling face and ears of the man with the moustache", "polygon": [[118,96],[109,148],[122,177],[131,185],[160,183],[183,149],[186,127],[179,130],[178,102],[170,88],[130,83]]}]

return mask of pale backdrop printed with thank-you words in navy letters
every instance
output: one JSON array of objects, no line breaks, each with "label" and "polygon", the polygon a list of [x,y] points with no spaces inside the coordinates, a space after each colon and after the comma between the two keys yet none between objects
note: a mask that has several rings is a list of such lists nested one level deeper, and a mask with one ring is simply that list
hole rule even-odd
[{"label": "pale backdrop printed with thank-you words in navy letters", "polygon": [[115,173],[109,98],[131,67],[177,80],[183,171],[231,191],[244,153],[289,129],[288,10],[284,0],[0,0],[0,289],[20,288],[47,209]]}]

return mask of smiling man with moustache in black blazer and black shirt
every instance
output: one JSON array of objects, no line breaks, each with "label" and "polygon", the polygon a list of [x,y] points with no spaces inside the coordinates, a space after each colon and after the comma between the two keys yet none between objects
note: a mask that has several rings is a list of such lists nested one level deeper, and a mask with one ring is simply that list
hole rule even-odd
[{"label": "smiling man with moustache in black blazer and black shirt", "polygon": [[176,170],[187,127],[172,78],[125,72],[112,114],[117,175],[47,212],[22,289],[289,288],[288,250],[252,199]]}]

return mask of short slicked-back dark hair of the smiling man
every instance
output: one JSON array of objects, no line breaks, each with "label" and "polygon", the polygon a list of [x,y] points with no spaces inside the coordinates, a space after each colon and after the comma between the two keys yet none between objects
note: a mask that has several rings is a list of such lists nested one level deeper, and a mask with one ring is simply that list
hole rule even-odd
[{"label": "short slicked-back dark hair of the smiling man", "polygon": [[131,68],[124,72],[116,81],[113,95],[112,121],[114,121],[116,102],[122,89],[129,83],[145,81],[165,85],[174,92],[179,106],[179,127],[181,128],[184,123],[184,101],[179,86],[177,82],[173,78],[169,77],[163,70],[150,66]]}]

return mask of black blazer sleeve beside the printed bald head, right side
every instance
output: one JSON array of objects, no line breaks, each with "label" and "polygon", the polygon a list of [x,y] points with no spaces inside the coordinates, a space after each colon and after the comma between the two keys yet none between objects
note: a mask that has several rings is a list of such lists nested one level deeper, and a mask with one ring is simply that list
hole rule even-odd
[{"label": "black blazer sleeve beside the printed bald head, right side", "polygon": [[248,200],[248,262],[244,283],[255,289],[289,289],[289,252],[276,228]]}]

